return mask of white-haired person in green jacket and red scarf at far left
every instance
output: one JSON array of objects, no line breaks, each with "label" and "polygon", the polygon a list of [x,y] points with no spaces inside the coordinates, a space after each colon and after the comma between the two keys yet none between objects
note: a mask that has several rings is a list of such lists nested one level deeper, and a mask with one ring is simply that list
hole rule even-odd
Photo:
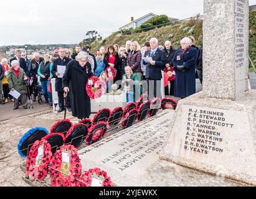
[{"label": "white-haired person in green jacket and red scarf at far left", "polygon": [[21,104],[24,109],[27,109],[27,88],[25,81],[27,76],[24,70],[19,67],[19,61],[13,60],[11,62],[11,69],[8,72],[7,80],[9,82],[9,87],[12,91],[18,91],[21,96],[18,99],[14,98],[14,110],[19,108],[19,99],[21,99]]}]

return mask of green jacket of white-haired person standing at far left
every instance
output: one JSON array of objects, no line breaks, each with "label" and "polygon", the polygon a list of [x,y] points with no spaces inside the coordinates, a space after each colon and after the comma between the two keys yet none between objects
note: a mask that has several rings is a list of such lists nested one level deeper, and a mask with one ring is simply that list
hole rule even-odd
[{"label": "green jacket of white-haired person standing at far left", "polygon": [[9,82],[9,88],[18,91],[21,94],[26,94],[26,83],[24,81],[26,74],[22,68],[19,68],[19,77],[17,77],[16,73],[10,68],[7,80]]}]

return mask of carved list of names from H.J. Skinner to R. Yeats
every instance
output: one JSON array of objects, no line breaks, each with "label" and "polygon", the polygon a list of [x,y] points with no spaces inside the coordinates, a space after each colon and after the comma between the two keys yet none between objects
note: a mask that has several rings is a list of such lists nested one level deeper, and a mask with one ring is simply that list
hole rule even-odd
[{"label": "carved list of names from H.J. Skinner to R. Yeats", "polygon": [[190,108],[187,116],[184,149],[201,154],[223,153],[224,149],[219,147],[224,141],[220,129],[234,128],[234,124],[227,123],[225,114]]}]

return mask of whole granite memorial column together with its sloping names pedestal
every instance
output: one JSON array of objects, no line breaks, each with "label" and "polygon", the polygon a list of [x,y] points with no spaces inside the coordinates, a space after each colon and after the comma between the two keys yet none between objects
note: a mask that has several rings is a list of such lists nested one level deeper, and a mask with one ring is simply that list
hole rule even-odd
[{"label": "whole granite memorial column together with its sloping names pedestal", "polygon": [[179,101],[160,159],[256,185],[249,1],[204,0],[203,91]]}]

